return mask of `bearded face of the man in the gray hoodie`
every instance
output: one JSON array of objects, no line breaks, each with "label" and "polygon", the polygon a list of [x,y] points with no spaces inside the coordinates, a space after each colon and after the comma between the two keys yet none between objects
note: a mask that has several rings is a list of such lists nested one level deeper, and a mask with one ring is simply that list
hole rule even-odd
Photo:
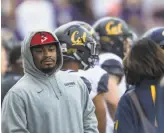
[{"label": "bearded face of the man in the gray hoodie", "polygon": [[35,66],[44,73],[54,70],[57,60],[56,45],[47,44],[31,48]]}]

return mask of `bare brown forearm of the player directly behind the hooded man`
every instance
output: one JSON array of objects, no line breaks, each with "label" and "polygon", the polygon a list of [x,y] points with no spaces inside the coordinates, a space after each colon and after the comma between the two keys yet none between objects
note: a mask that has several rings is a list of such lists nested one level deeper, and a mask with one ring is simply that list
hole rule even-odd
[{"label": "bare brown forearm of the player directly behind the hooded man", "polygon": [[98,120],[98,130],[100,133],[106,133],[106,110],[103,96],[101,94],[97,95],[93,99],[93,103],[96,108],[95,113]]}]

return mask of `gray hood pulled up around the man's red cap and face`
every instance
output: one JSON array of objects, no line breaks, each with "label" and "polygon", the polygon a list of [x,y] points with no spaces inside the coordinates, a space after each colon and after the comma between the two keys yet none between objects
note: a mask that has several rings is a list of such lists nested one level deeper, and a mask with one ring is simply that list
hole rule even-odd
[{"label": "gray hood pulled up around the man's red cap and face", "polygon": [[[47,31],[43,30],[43,31],[30,32],[25,37],[25,39],[22,43],[21,54],[22,54],[22,60],[23,60],[23,68],[24,68],[25,74],[29,74],[29,75],[32,75],[37,78],[45,78],[45,76],[47,77],[47,76],[54,75],[57,71],[59,71],[61,69],[62,63],[63,63],[63,58],[62,58],[60,44],[58,43],[58,44],[56,44],[56,46],[57,46],[56,47],[57,48],[57,62],[56,62],[56,67],[55,67],[54,73],[51,75],[48,75],[36,68],[34,61],[33,61],[32,53],[30,50],[30,42],[31,42],[32,37],[38,32],[47,32]],[[53,34],[52,32],[49,32],[49,33],[52,34],[53,37],[58,41],[55,34]]]}]

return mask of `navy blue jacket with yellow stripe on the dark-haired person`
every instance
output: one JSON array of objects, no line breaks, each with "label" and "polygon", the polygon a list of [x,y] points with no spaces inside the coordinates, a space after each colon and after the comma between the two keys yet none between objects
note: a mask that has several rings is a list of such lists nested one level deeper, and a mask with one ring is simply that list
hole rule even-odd
[{"label": "navy blue jacket with yellow stripe on the dark-haired person", "polygon": [[[157,125],[155,101],[158,81],[144,80],[139,85],[134,86],[134,89],[145,116],[155,127]],[[122,96],[118,104],[114,132],[143,133],[139,115],[128,93]]]}]

